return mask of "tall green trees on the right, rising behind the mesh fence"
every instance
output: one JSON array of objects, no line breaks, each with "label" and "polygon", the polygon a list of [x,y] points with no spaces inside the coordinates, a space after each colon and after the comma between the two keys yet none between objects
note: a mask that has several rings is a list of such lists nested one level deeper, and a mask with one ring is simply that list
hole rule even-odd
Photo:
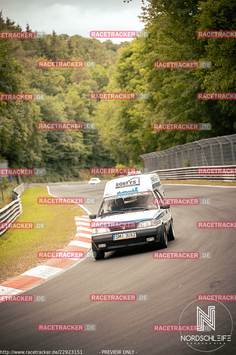
[{"label": "tall green trees on the right, rising behind the mesh fence", "polygon": [[[236,92],[236,39],[197,38],[201,30],[234,31],[236,2],[152,0],[140,18],[149,37],[125,46],[106,91],[148,92],[149,99],[101,101],[96,114],[117,163],[137,164],[140,154],[236,133],[234,100],[196,99],[198,92]],[[168,60],[206,60],[212,68],[153,69],[153,61]],[[212,130],[153,131],[155,122],[209,122]]]}]

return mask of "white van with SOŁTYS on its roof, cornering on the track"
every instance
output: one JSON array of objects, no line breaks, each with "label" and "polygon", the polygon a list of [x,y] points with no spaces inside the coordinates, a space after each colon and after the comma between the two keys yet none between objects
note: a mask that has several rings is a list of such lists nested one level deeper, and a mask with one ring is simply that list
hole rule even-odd
[{"label": "white van with SO\u0141TYS on its roof, cornering on the track", "polygon": [[167,247],[174,240],[170,205],[162,204],[165,192],[157,174],[140,171],[106,183],[98,214],[90,214],[92,250],[96,260],[105,252],[152,243]]}]

